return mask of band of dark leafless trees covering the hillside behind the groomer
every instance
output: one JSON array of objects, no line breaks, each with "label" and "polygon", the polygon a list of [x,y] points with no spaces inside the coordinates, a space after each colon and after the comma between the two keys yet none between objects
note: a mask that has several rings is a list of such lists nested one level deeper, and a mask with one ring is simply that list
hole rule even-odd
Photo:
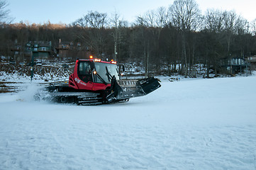
[{"label": "band of dark leafless trees covering the hillside behind the groomer", "polygon": [[[80,42],[96,57],[143,64],[148,72],[180,72],[194,76],[196,64],[216,73],[222,59],[256,55],[256,19],[251,23],[235,11],[209,9],[201,14],[196,1],[175,0],[138,16],[129,24],[118,13],[89,11],[70,25],[1,24],[0,55],[9,56],[15,44],[59,40]],[[75,57],[75,56],[74,56]],[[208,73],[208,72],[207,72]]]}]

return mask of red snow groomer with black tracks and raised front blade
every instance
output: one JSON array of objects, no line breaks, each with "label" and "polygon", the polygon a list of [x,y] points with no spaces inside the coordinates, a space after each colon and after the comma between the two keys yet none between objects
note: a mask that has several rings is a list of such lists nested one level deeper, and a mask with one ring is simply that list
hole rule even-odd
[{"label": "red snow groomer with black tracks and raised front blade", "polygon": [[113,60],[106,62],[92,57],[89,60],[77,60],[68,84],[50,84],[46,87],[43,98],[57,103],[97,105],[129,101],[130,98],[150,94],[161,86],[152,77],[138,80],[119,79],[123,71],[123,65],[118,67]]}]

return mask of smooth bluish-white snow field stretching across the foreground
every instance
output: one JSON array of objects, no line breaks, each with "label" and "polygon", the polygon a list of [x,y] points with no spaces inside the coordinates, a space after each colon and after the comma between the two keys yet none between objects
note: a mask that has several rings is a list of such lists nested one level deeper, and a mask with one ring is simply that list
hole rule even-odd
[{"label": "smooth bluish-white snow field stretching across the foreground", "polygon": [[0,169],[256,169],[256,77],[182,79],[127,103],[0,95]]}]

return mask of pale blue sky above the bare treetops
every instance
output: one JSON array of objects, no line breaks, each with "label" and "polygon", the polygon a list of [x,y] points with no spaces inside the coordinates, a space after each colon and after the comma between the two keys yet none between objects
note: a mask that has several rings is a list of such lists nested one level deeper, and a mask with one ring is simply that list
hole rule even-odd
[{"label": "pale blue sky above the bare treetops", "polygon": [[[119,13],[121,18],[133,22],[135,17],[160,6],[168,7],[174,0],[7,0],[13,23],[72,23],[88,11]],[[204,13],[207,8],[235,10],[236,13],[252,21],[256,18],[255,0],[196,0]]]}]

